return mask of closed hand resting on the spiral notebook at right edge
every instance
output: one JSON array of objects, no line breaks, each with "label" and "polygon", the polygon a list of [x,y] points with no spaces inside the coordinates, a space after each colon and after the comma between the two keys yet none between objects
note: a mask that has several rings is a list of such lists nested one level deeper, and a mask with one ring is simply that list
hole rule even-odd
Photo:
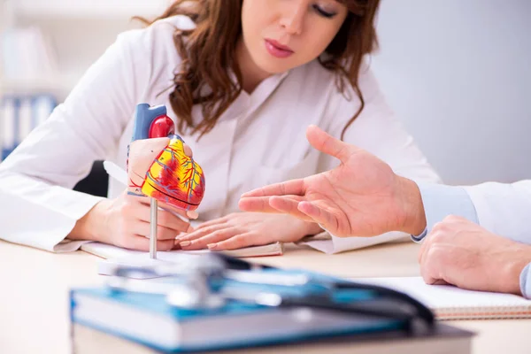
[{"label": "closed hand resting on the spiral notebook at right edge", "polygon": [[419,252],[427,284],[521,295],[519,274],[531,262],[531,246],[450,216],[427,235]]}]

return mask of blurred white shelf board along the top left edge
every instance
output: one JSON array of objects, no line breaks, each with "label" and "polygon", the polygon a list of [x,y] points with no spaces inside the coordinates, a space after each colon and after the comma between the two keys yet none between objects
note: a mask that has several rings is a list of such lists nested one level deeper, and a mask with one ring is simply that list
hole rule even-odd
[{"label": "blurred white shelf board along the top left edge", "polygon": [[26,18],[130,18],[154,17],[169,0],[12,0],[17,17]]}]

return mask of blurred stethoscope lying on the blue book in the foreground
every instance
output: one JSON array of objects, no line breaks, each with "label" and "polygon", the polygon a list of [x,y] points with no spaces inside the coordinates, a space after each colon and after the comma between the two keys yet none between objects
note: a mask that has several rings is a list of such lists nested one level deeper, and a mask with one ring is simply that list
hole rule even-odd
[{"label": "blurred stethoscope lying on the blue book in the foreground", "polygon": [[[167,304],[189,311],[215,311],[228,302],[237,301],[267,307],[320,309],[403,321],[404,329],[416,333],[430,331],[434,327],[434,314],[424,304],[396,290],[350,281],[315,279],[307,273],[264,272],[267,269],[276,268],[251,264],[221,253],[211,253],[190,258],[189,262],[180,265],[117,267],[107,286],[115,292],[163,295]],[[133,279],[138,278],[139,274],[150,278],[164,277],[165,280]],[[174,281],[168,281],[170,279]],[[240,286],[219,285],[227,283]],[[261,287],[242,287],[242,284]],[[292,289],[312,286],[319,291],[312,292],[311,295],[291,296],[264,290],[279,286]],[[338,291],[366,292],[372,295],[372,299],[338,301],[335,296]]]}]

